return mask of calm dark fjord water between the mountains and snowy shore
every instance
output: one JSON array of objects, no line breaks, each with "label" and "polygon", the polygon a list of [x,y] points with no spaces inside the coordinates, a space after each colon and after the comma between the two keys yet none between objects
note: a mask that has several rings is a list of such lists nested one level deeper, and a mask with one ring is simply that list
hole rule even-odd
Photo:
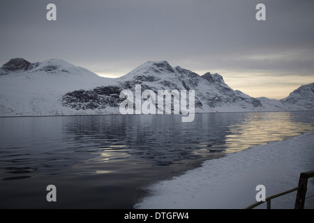
[{"label": "calm dark fjord water between the mountains and snowy shore", "polygon": [[314,112],[0,118],[0,208],[133,208],[144,185],[313,122]]}]

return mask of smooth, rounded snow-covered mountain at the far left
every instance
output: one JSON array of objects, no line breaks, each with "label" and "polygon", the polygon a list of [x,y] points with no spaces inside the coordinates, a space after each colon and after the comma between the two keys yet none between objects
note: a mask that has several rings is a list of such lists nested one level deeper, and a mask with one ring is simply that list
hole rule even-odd
[{"label": "smooth, rounded snow-covered mountain at the far left", "polygon": [[0,116],[73,114],[61,105],[62,95],[114,83],[59,59],[36,63],[11,59],[0,68]]}]

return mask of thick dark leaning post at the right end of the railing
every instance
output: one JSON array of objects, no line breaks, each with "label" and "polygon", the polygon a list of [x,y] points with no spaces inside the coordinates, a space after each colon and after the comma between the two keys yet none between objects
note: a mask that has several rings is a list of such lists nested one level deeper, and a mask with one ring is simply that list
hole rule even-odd
[{"label": "thick dark leaning post at the right end of the railing", "polygon": [[314,176],[314,171],[308,171],[300,174],[299,189],[297,190],[297,197],[295,199],[294,209],[304,209],[304,201],[306,199],[306,190],[308,185],[308,178]]}]

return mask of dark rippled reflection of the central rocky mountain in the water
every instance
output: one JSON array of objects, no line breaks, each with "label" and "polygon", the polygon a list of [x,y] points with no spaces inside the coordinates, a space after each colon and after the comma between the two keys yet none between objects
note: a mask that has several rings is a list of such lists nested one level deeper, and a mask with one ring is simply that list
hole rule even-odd
[{"label": "dark rippled reflection of the central rocky mountain in the water", "polygon": [[200,115],[193,124],[181,123],[181,116],[173,115],[73,117],[75,121],[67,123],[66,130],[75,133],[81,144],[92,141],[102,153],[123,149],[133,157],[169,165],[225,151],[225,132],[231,118],[211,116]]}]

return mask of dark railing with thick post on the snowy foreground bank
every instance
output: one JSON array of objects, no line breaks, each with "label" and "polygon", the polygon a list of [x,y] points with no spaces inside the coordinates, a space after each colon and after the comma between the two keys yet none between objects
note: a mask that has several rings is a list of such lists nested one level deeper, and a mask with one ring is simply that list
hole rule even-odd
[{"label": "dark railing with thick post on the snowy foreground bank", "polygon": [[308,178],[312,178],[314,177],[314,171],[307,171],[304,173],[300,174],[299,177],[299,184],[297,187],[291,189],[291,190],[287,190],[285,192],[281,192],[278,194],[274,194],[270,197],[267,197],[265,199],[265,201],[258,201],[256,203],[251,204],[250,206],[246,207],[246,209],[252,209],[255,208],[256,206],[259,206],[260,204],[267,202],[267,209],[271,208],[271,199],[274,199],[276,197],[281,197],[285,194],[289,194],[291,192],[294,192],[297,190],[297,197],[295,199],[295,203],[294,203],[294,209],[304,209],[304,202],[306,200],[306,190],[308,187]]}]

